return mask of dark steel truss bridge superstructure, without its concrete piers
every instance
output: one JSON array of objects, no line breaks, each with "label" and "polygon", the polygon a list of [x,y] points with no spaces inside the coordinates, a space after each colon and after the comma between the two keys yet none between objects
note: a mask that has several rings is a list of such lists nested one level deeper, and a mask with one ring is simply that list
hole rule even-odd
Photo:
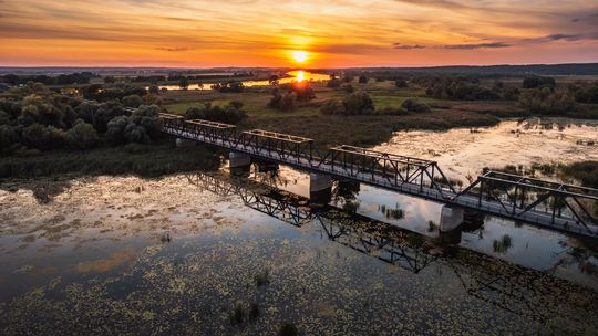
[{"label": "dark steel truss bridge superstructure, without its concrete piers", "polygon": [[598,190],[488,171],[462,190],[432,160],[354,146],[326,153],[313,139],[203,119],[159,115],[162,132],[257,159],[578,235],[598,237]]}]

